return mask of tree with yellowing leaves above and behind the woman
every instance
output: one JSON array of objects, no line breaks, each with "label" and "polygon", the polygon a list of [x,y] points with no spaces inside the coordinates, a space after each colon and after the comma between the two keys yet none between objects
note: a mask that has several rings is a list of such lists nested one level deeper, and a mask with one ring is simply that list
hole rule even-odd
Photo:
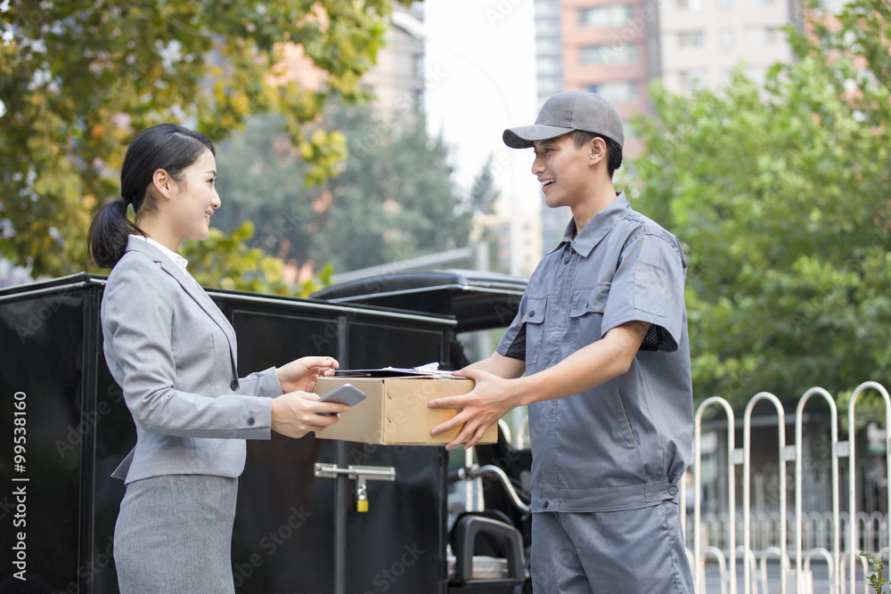
[{"label": "tree with yellowing leaves above and behind the woman", "polygon": [[[391,5],[410,0],[44,0],[0,3],[0,255],[35,275],[87,268],[86,228],[118,193],[126,143],[184,122],[215,142],[250,113],[280,111],[321,182],[346,156],[342,134],[306,134],[360,78]],[[276,69],[282,43],[326,73],[305,88]]]}]

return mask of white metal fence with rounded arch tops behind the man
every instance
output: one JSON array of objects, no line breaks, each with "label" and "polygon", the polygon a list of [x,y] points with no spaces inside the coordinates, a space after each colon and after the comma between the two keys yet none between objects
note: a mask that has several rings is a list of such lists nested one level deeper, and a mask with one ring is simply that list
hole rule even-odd
[{"label": "white metal fence with rounded arch tops behind the man", "polygon": [[[786,419],[780,400],[762,392],[748,402],[743,418],[743,447],[735,443],[735,419],[733,409],[723,398],[712,397],[699,405],[695,416],[693,441],[693,461],[688,472],[693,474],[692,522],[686,514],[687,492],[682,481],[681,511],[686,526],[688,557],[691,558],[696,591],[707,592],[706,565],[716,566],[719,574],[717,588],[722,594],[737,594],[737,572],[743,573],[745,594],[767,592],[769,581],[780,584],[781,594],[787,592],[787,582],[795,583],[798,594],[814,591],[811,561],[819,558],[828,569],[829,591],[831,594],[854,594],[859,582],[864,592],[869,593],[869,582],[865,575],[870,573],[866,559],[860,556],[862,550],[878,556],[888,556],[889,534],[891,534],[891,513],[867,513],[857,509],[858,472],[856,469],[856,448],[854,447],[854,407],[864,392],[873,390],[885,401],[885,427],[891,428],[891,399],[885,387],[877,382],[864,382],[856,387],[848,406],[847,441],[838,441],[838,409],[832,396],[821,387],[814,387],[802,395],[797,404],[795,420],[795,443],[786,444]],[[805,405],[816,397],[824,401],[830,410],[830,509],[804,510],[805,460],[803,426]],[[752,411],[756,403],[772,403],[776,409],[778,451],[774,460],[779,472],[779,501],[775,511],[752,512]],[[707,409],[723,408],[727,417],[726,435],[726,501],[721,507],[726,511],[714,513],[702,510],[702,418]],[[891,432],[887,432],[891,435]],[[886,460],[885,480],[891,478],[891,456],[888,455],[889,440],[885,437],[884,455]],[[839,459],[847,459],[847,502],[848,509],[840,509],[841,481]],[[794,484],[787,485],[786,465],[795,463]],[[742,509],[736,502],[737,468],[742,467]],[[794,509],[787,501],[788,487],[794,489]],[[887,507],[891,511],[891,489],[887,489]],[[791,510],[791,514],[789,514]],[[851,518],[854,518],[852,521]],[[732,519],[732,521],[731,521]],[[738,531],[741,530],[741,535]],[[740,538],[741,536],[741,538]],[[791,544],[791,549],[790,545]],[[771,564],[770,561],[774,563]],[[778,563],[777,563],[778,561]],[[714,564],[714,565],[712,565]],[[739,567],[738,567],[739,566]],[[859,567],[859,569],[858,569]],[[773,574],[771,575],[771,572]],[[718,591],[713,589],[714,591]],[[823,591],[823,590],[820,590]]]}]

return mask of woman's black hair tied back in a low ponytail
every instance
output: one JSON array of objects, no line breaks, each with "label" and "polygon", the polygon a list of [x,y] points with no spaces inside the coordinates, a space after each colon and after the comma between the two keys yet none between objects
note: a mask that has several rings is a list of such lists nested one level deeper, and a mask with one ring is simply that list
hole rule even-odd
[{"label": "woman's black hair tied back in a low ponytail", "polygon": [[127,218],[127,206],[133,205],[136,216],[154,210],[148,189],[155,171],[164,169],[179,181],[204,151],[217,154],[206,135],[177,124],[159,124],[136,134],[120,170],[120,197],[99,209],[86,233],[86,252],[94,264],[112,268],[124,256],[127,237],[145,235]]}]

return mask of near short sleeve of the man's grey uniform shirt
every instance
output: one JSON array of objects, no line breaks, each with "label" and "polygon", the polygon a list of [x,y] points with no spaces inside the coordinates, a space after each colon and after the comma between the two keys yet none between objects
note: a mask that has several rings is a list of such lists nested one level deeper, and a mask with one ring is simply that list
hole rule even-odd
[{"label": "near short sleeve of the man's grey uniform shirt", "polygon": [[650,331],[644,348],[677,349],[685,321],[687,267],[680,249],[677,240],[650,234],[625,244],[603,311],[603,334],[628,321],[649,322],[657,329]]}]

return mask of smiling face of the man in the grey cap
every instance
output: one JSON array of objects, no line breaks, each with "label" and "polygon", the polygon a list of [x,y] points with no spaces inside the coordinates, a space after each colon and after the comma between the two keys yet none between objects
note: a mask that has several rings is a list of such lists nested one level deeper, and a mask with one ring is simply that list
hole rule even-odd
[{"label": "smiling face of the man in the grey cap", "polygon": [[576,148],[571,134],[536,141],[532,173],[542,183],[544,202],[552,208],[574,207],[585,198],[592,182],[590,154]]}]

